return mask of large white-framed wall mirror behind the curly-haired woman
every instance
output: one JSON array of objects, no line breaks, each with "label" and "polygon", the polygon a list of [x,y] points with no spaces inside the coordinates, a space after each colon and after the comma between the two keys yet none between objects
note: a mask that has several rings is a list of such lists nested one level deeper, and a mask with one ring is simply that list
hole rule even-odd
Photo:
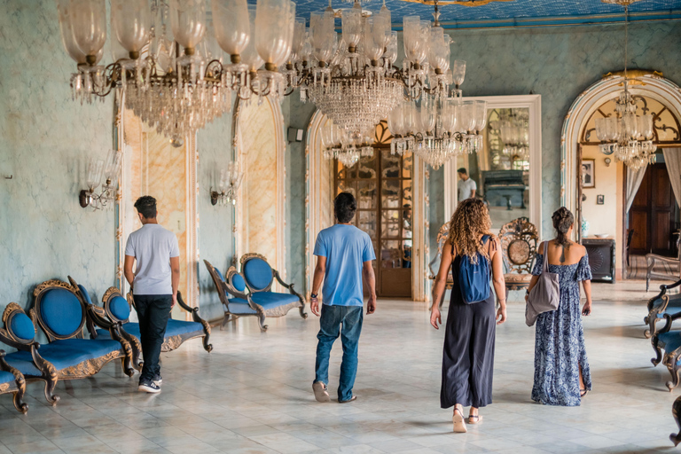
[{"label": "large white-framed wall mirror behind the curly-haired woman", "polygon": [[458,204],[458,168],[477,185],[476,197],[489,207],[492,229],[528,217],[541,229],[541,97],[470,98],[487,101],[483,146],[450,160],[445,168],[445,221]]}]

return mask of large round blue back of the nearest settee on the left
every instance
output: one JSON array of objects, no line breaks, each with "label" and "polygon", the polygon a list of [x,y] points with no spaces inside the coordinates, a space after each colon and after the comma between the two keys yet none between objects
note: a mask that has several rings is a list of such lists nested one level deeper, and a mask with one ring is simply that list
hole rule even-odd
[{"label": "large round blue back of the nearest settee on the left", "polygon": [[87,315],[78,287],[51,279],[35,287],[31,316],[43,328],[49,341],[83,338]]}]

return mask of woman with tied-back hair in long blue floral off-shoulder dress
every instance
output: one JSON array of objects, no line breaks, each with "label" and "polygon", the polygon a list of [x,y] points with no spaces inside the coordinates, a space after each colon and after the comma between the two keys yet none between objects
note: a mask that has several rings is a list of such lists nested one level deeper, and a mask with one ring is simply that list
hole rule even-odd
[{"label": "woman with tied-back hair in long blue floral off-shoulder dress", "polygon": [[[569,239],[575,217],[568,208],[560,207],[553,213],[552,220],[557,235],[537,251],[528,294],[542,274],[544,260],[548,260],[549,271],[559,275],[560,303],[557,310],[544,312],[536,319],[532,400],[548,405],[576,406],[591,390],[591,372],[579,310],[579,283],[582,282],[586,295],[582,315],[591,314],[591,268],[586,248]],[[548,248],[548,253],[544,248]]]}]

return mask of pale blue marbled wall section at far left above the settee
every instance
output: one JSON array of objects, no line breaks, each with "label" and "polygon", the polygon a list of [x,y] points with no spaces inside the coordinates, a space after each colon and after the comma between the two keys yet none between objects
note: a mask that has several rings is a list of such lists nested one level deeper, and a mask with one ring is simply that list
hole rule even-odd
[{"label": "pale blue marbled wall section at far left above the settee", "polygon": [[71,275],[93,299],[115,284],[114,212],[78,205],[88,157],[112,148],[114,102],[72,101],[74,69],[55,2],[2,3],[0,310],[10,301],[26,308],[50,278]]}]

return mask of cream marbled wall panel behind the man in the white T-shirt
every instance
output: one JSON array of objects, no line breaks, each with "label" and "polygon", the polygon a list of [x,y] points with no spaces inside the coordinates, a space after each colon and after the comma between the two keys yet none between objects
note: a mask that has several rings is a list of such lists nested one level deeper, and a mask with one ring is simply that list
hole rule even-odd
[{"label": "cream marbled wall panel behind the man in the white T-shirt", "polygon": [[[117,121],[118,140],[123,151],[118,206],[119,273],[122,272],[128,236],[142,226],[134,207],[135,200],[142,195],[151,195],[157,200],[160,225],[177,236],[180,247],[179,291],[187,304],[197,306],[196,137],[171,141],[124,107],[119,110]],[[128,282],[122,276],[120,286],[128,292]],[[188,319],[188,316],[177,305],[173,309],[173,318]]]}]

